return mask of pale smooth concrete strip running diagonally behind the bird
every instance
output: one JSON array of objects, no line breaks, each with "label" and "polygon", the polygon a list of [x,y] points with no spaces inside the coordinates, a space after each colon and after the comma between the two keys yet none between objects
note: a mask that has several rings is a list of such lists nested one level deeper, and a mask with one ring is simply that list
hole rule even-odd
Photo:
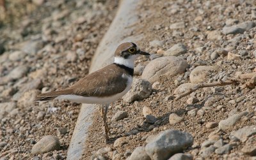
[{"label": "pale smooth concrete strip running diagonally behind the bird", "polygon": [[[116,16],[111,23],[104,38],[95,52],[90,67],[90,73],[113,62],[116,47],[124,41],[138,42],[142,35],[129,36],[138,23],[138,3],[136,0],[122,0],[118,6]],[[93,123],[93,115],[97,111],[97,105],[83,104],[76,122],[76,127],[68,147],[67,159],[81,159],[86,151],[86,138],[88,130]],[[99,115],[100,116],[100,115]]]}]

